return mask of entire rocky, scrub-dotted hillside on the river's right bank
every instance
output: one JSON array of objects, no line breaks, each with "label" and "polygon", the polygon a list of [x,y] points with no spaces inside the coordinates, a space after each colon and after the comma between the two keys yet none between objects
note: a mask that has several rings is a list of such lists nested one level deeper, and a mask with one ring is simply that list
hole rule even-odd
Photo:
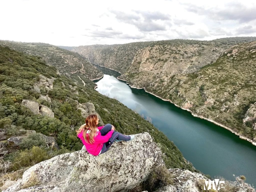
[{"label": "entire rocky, scrub-dotted hillside on the river's right bank", "polygon": [[[89,56],[94,55],[91,61],[119,70],[120,78],[130,86],[145,88],[255,142],[256,114],[251,105],[256,102],[255,40],[167,40],[143,42],[142,49],[138,42],[101,48],[98,45],[94,52],[93,46],[80,46],[73,51],[90,59],[86,55],[90,49]],[[122,56],[121,50],[126,51],[129,59]]]}]

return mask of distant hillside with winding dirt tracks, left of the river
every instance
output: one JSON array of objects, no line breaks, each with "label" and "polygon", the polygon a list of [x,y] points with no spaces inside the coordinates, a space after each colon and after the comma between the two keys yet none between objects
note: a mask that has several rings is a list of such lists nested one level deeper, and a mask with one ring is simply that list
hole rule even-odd
[{"label": "distant hillside with winding dirt tracks, left of the river", "polygon": [[[1,45],[12,47],[14,50],[42,58],[47,64],[55,66],[61,74],[70,77],[74,74],[88,79],[97,79],[103,74],[85,60],[81,55],[45,43],[26,43],[0,41]],[[57,72],[58,72],[57,71]]]}]

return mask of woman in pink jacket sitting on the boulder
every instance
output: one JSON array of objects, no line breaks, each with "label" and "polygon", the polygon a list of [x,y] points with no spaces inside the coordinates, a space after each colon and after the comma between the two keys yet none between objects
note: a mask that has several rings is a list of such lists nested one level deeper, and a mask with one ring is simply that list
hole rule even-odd
[{"label": "woman in pink jacket sitting on the boulder", "polygon": [[123,135],[115,131],[115,127],[111,124],[97,127],[99,118],[97,115],[89,115],[85,124],[81,125],[77,132],[77,136],[82,140],[86,150],[92,155],[99,155],[106,152],[109,147],[120,141],[132,141],[135,135]]}]

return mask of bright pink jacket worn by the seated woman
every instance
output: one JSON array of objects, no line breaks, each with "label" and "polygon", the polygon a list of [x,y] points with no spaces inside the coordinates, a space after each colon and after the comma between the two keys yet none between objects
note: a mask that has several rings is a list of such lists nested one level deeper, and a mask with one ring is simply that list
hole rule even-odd
[{"label": "bright pink jacket worn by the seated woman", "polygon": [[[110,130],[106,135],[102,136],[100,131],[102,129],[103,126],[98,127],[98,131],[97,131],[97,135],[94,137],[94,143],[90,144],[90,143],[86,143],[86,141],[83,138],[83,131],[81,133],[79,133],[77,136],[82,140],[82,143],[84,144],[84,146],[86,147],[86,150],[92,154],[92,155],[99,155],[101,152],[101,149],[103,147],[103,144],[106,143],[109,138],[112,136],[113,134],[113,130]],[[86,136],[88,136],[90,130],[87,131]]]}]

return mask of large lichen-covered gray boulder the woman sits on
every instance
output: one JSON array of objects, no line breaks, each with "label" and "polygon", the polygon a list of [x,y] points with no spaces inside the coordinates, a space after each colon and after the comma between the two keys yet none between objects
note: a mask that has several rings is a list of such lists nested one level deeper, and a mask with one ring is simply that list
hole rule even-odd
[{"label": "large lichen-covered gray boulder the woman sits on", "polygon": [[[14,191],[127,191],[143,182],[154,167],[164,165],[162,152],[149,133],[136,134],[133,141],[114,143],[98,156],[81,151],[55,156],[38,163],[24,172]],[[36,174],[40,186],[21,187]]]}]

